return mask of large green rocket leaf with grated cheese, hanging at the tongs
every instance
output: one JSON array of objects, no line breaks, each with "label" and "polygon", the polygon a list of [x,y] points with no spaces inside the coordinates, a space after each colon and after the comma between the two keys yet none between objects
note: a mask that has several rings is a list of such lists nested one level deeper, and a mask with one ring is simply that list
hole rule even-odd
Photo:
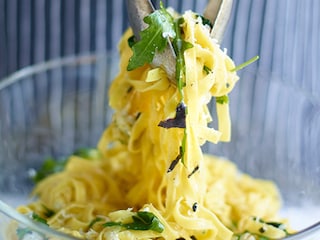
[{"label": "large green rocket leaf with grated cheese, hanging at the tongs", "polygon": [[174,38],[173,18],[160,5],[160,9],[146,16],[144,22],[149,26],[141,31],[140,41],[132,45],[133,55],[129,59],[127,70],[131,71],[146,63],[151,63],[157,52],[167,47],[168,38]]}]

